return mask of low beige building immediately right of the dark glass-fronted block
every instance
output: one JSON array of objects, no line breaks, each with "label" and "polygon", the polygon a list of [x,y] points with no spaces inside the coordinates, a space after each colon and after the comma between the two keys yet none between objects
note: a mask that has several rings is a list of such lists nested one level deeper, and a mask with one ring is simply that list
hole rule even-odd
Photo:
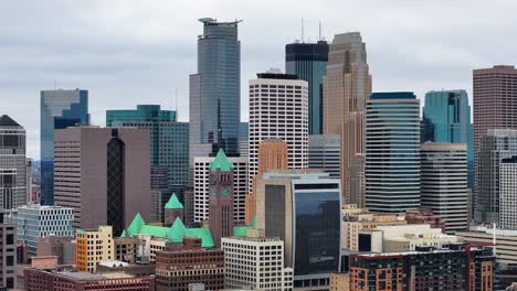
[{"label": "low beige building immediately right of the dark glass-fronted block", "polygon": [[367,208],[358,208],[355,204],[347,204],[341,211],[341,246],[345,249],[359,250],[359,233],[376,229],[383,225],[405,225],[403,215],[372,214]]}]

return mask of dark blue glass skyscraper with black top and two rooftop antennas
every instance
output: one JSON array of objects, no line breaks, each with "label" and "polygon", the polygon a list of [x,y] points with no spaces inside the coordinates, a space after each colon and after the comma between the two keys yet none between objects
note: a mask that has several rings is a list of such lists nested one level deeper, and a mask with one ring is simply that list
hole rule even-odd
[{"label": "dark blue glass skyscraper with black top and two rooftop antennas", "polygon": [[323,77],[327,69],[328,43],[291,43],[285,46],[285,73],[308,83],[308,132],[323,132]]}]

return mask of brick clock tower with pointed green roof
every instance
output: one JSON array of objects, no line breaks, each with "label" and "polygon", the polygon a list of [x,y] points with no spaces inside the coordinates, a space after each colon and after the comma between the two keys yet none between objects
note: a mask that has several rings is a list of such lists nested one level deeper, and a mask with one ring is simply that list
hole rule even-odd
[{"label": "brick clock tower with pointed green roof", "polygon": [[218,248],[233,235],[233,163],[222,149],[210,164],[209,226]]}]

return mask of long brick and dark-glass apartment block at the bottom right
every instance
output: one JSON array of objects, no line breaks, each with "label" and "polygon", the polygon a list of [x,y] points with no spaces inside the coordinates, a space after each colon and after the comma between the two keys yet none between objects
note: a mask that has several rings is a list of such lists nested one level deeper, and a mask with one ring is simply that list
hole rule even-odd
[{"label": "long brick and dark-glass apartment block at the bottom right", "polygon": [[350,259],[350,290],[498,290],[495,270],[493,249],[483,246],[359,254]]}]

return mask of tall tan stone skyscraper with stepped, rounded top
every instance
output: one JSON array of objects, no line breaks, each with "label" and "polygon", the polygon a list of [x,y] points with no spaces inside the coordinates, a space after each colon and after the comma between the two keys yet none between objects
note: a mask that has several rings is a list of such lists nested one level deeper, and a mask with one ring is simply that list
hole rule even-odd
[{"label": "tall tan stone skyscraper with stepped, rounded top", "polygon": [[346,203],[351,196],[363,196],[362,193],[352,193],[348,181],[350,161],[365,152],[365,112],[370,95],[371,75],[360,33],[335,35],[324,77],[324,133],[341,136],[340,175]]}]

